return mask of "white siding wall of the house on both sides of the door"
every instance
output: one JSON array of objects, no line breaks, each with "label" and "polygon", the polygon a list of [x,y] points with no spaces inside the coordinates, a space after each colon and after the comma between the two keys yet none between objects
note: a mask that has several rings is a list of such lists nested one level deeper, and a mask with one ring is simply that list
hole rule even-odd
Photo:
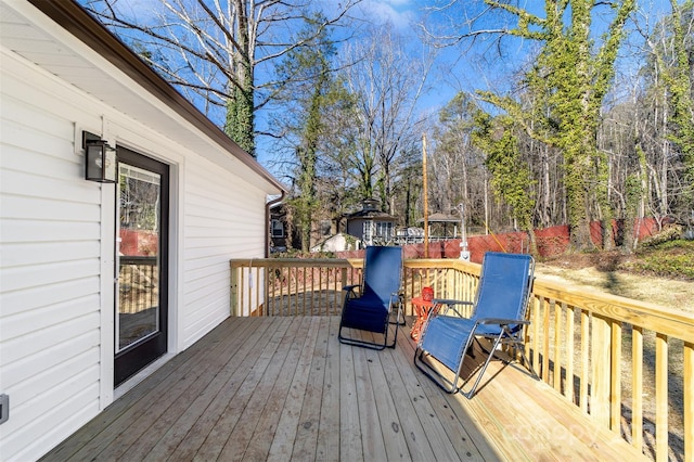
[{"label": "white siding wall of the house on both sides of the door", "polygon": [[0,460],[33,460],[113,401],[115,187],[81,130],[171,166],[169,354],[229,316],[229,259],[261,257],[266,192],[0,44]]}]

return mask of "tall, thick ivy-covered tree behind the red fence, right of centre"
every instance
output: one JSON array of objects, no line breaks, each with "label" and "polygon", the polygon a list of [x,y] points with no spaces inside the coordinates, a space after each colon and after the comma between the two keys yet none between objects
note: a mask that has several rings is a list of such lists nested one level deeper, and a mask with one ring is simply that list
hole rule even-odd
[{"label": "tall, thick ivy-covered tree behind the red fence, right of centre", "polygon": [[[603,100],[615,74],[625,23],[634,9],[634,1],[613,5],[614,17],[600,47],[594,47],[591,36],[591,23],[597,8],[592,0],[548,0],[544,17],[512,4],[486,2],[517,18],[517,27],[510,34],[542,42],[537,65],[529,72],[527,81],[541,86],[539,90],[545,92],[549,119],[540,125],[541,130],[528,132],[561,150],[571,245],[576,249],[592,248],[590,220],[602,218],[609,223],[613,217],[607,202],[606,163],[596,145],[597,127]],[[518,116],[523,112],[520,104],[510,98],[490,92],[481,95],[510,115]],[[552,130],[548,131],[548,128]],[[612,242],[612,226],[604,229],[605,241]]]}]

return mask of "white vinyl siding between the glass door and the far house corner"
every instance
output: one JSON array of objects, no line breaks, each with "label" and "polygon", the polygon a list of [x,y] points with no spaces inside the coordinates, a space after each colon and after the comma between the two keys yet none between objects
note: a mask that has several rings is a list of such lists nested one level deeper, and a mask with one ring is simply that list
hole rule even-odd
[{"label": "white vinyl siding between the glass door and the far house corner", "polygon": [[183,344],[190,346],[230,313],[230,258],[265,252],[265,194],[215,164],[185,169]]}]

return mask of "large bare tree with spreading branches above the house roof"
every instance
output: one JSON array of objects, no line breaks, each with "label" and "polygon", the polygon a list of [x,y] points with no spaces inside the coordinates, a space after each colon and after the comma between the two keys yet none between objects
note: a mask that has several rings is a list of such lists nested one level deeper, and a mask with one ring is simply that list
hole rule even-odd
[{"label": "large bare tree with spreading branches above the house roof", "polygon": [[160,0],[145,3],[158,5],[146,12],[125,10],[118,0],[85,2],[255,155],[255,136],[262,133],[255,128],[256,111],[286,84],[274,78],[271,64],[347,20],[361,0],[331,4],[313,34],[301,37],[297,33],[318,10],[309,0]]}]

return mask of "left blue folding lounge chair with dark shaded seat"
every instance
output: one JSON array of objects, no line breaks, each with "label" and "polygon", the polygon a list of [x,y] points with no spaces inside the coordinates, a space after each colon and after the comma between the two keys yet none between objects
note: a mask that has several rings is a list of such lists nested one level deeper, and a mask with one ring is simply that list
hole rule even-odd
[{"label": "left blue folding lounge chair with dark shaded seat", "polygon": [[[340,343],[372,349],[395,348],[400,324],[400,281],[402,278],[401,247],[367,247],[362,284],[347,285],[339,322]],[[357,287],[360,290],[357,291]],[[388,324],[393,309],[397,308],[395,338],[388,345]],[[383,342],[346,337],[343,329],[357,329],[383,336]]]}]

